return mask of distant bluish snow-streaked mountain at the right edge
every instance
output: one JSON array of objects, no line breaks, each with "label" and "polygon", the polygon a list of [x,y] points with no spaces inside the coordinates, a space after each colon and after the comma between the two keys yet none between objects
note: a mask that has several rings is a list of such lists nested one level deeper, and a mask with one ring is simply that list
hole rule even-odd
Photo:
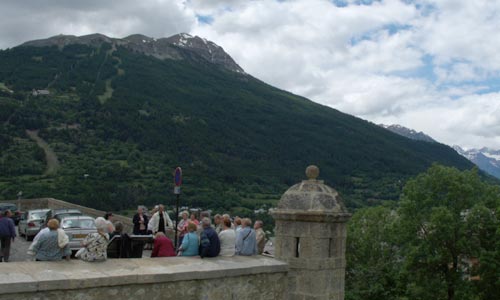
[{"label": "distant bluish snow-streaked mountain at the right edge", "polygon": [[460,155],[476,164],[479,169],[500,178],[500,150],[489,148],[464,150],[460,146],[453,146]]}]

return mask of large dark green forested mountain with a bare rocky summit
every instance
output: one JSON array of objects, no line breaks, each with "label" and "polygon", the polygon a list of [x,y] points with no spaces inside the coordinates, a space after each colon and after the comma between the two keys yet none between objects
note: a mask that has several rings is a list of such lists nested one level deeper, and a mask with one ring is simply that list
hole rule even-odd
[{"label": "large dark green forested mountain with a bare rocky summit", "polygon": [[224,50],[179,34],[56,36],[0,51],[0,198],[103,210],[181,204],[247,214],[307,165],[350,207],[397,200],[432,163],[473,164],[274,88]]}]

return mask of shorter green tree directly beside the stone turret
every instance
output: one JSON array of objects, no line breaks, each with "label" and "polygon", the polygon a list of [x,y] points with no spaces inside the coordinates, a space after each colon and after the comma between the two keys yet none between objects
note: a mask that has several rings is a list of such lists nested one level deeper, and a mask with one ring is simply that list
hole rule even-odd
[{"label": "shorter green tree directly beside the stone turret", "polygon": [[391,207],[363,208],[347,227],[346,299],[396,299],[399,269]]}]

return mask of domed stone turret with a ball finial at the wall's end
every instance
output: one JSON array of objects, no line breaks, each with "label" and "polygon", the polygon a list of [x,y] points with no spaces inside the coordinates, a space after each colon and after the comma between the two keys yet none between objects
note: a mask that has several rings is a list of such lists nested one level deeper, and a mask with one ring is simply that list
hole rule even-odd
[{"label": "domed stone turret with a ball finial at the wall's end", "polygon": [[339,193],[306,169],[308,180],[286,191],[271,211],[275,257],[289,264],[287,299],[344,299],[346,222]]}]

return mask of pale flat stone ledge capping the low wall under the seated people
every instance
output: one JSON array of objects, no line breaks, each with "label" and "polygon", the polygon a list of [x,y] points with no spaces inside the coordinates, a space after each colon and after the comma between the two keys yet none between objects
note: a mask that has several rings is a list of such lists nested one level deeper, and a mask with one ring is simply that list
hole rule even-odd
[{"label": "pale flat stone ledge capping the low wall under the seated people", "polygon": [[264,256],[109,259],[97,263],[16,262],[2,264],[0,290],[3,294],[47,292],[287,271],[286,263]]}]

